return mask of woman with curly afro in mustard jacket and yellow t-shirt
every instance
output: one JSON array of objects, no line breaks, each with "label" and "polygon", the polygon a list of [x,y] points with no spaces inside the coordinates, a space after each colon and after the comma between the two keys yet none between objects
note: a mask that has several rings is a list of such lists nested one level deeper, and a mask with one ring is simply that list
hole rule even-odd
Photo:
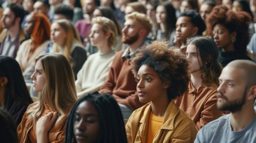
[{"label": "woman with curly afro in mustard jacket and yellow t-shirt", "polygon": [[138,98],[147,104],[129,117],[128,142],[194,141],[195,124],[173,101],[187,91],[188,69],[189,62],[168,42],[152,42],[132,58]]}]

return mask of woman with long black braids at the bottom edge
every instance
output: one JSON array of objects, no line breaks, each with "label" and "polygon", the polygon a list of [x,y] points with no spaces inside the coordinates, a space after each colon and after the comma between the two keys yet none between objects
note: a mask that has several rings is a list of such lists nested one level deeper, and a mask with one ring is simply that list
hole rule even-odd
[{"label": "woman with long black braids at the bottom edge", "polygon": [[126,143],[124,118],[115,98],[97,92],[80,98],[70,111],[65,142]]}]

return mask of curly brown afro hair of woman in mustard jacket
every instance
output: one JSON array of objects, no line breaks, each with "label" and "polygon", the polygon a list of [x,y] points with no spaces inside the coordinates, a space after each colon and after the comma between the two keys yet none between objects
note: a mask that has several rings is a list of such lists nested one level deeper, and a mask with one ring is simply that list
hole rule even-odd
[{"label": "curly brown afro hair of woman in mustard jacket", "polygon": [[170,48],[168,42],[158,40],[145,45],[132,58],[131,71],[134,76],[141,66],[152,67],[160,76],[162,82],[170,83],[167,89],[169,100],[183,95],[189,84],[189,61],[180,53]]}]

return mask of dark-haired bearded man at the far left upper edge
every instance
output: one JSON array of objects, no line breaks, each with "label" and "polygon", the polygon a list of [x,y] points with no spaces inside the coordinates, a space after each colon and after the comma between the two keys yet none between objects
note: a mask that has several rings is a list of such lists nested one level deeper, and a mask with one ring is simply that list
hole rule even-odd
[{"label": "dark-haired bearded man at the far left upper edge", "polygon": [[7,29],[7,35],[0,40],[0,55],[16,57],[20,43],[25,40],[24,32],[20,26],[24,14],[23,7],[16,3],[8,5],[4,10],[1,24],[3,28]]}]

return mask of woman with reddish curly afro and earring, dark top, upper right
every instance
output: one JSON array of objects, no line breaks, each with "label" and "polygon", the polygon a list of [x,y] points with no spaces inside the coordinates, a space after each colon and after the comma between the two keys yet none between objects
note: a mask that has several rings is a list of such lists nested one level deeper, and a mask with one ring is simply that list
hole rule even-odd
[{"label": "woman with reddish curly afro and earring, dark top, upper right", "polygon": [[220,63],[225,67],[233,60],[251,60],[246,51],[249,43],[251,16],[246,12],[235,12],[220,5],[212,10],[206,20],[208,36],[220,49]]}]

